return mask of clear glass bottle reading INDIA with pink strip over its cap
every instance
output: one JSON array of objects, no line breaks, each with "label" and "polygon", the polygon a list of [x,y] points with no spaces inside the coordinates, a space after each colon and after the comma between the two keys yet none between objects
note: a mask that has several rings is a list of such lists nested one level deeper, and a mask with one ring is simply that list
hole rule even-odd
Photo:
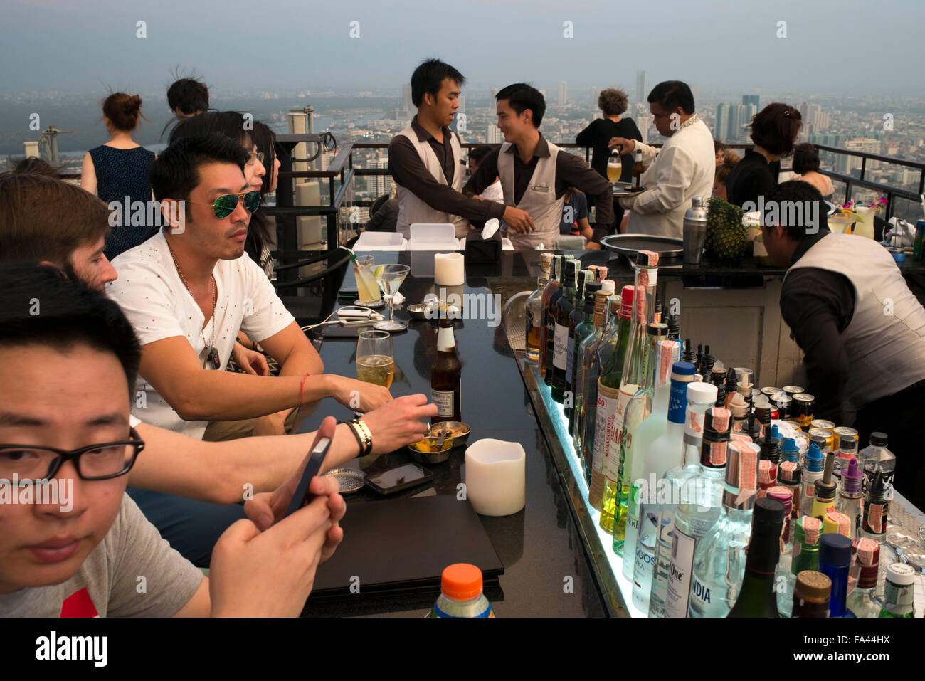
[{"label": "clear glass bottle reading INDIA with pink strip over its cap", "polygon": [[731,441],[720,517],[694,551],[688,617],[725,617],[733,606],[746,569],[757,494],[758,452],[747,442]]}]

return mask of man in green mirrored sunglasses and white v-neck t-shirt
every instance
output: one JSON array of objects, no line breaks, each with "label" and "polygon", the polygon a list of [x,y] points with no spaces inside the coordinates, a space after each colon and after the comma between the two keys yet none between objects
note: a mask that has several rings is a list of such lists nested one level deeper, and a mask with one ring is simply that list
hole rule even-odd
[{"label": "man in green mirrored sunglasses and white v-neck t-shirt", "polygon": [[[256,419],[255,435],[282,434],[326,397],[355,407],[359,396],[360,411],[391,400],[380,386],[325,374],[263,270],[241,257],[259,205],[247,161],[238,142],[218,134],[167,147],[151,185],[170,225],[119,255],[118,279],[107,286],[142,342],[133,413],[191,437],[202,438],[209,422],[240,419]],[[223,371],[239,331],[277,360],[278,377]]]}]

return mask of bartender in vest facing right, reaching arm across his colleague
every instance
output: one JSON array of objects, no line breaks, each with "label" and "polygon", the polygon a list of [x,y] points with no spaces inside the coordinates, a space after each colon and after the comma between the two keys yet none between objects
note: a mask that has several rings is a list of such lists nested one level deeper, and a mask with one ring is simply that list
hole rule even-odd
[{"label": "bartender in vest facing right, reaching arm across his colleague", "polygon": [[509,225],[532,228],[523,210],[463,195],[466,159],[460,136],[450,130],[459,108],[462,73],[438,59],[414,69],[411,98],[417,115],[388,144],[388,171],[398,191],[397,230],[410,236],[416,222],[452,223],[456,238],[465,238],[469,222],[503,218]]}]

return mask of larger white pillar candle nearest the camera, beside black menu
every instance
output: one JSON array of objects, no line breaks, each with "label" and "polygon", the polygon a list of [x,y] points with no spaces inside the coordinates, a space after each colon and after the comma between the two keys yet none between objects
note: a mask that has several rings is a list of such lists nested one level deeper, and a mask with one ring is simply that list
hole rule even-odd
[{"label": "larger white pillar candle nearest the camera, beside black menu", "polygon": [[475,513],[512,515],[524,508],[526,454],[518,442],[478,440],[465,451],[466,499]]}]

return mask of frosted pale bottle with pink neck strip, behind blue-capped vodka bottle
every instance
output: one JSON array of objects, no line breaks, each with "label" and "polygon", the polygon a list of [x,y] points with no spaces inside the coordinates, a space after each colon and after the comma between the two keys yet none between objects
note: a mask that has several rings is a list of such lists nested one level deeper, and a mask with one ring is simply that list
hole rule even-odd
[{"label": "frosted pale bottle with pink neck strip, behind blue-capped vodka bottle", "polygon": [[[623,576],[633,579],[635,542],[638,537],[640,517],[640,489],[637,481],[646,484],[655,484],[657,477],[652,473],[646,476],[646,452],[649,446],[657,440],[668,425],[668,402],[672,389],[672,366],[681,357],[681,341],[658,341],[656,343],[655,372],[653,374],[652,407],[648,417],[635,427],[630,440],[630,477],[633,487],[630,489],[626,510],[626,528],[623,532]],[[639,398],[638,400],[636,398]],[[627,415],[635,421],[635,413],[645,411],[646,405],[639,403],[646,400],[646,395],[637,392],[634,399],[627,405]],[[634,404],[634,402],[636,402]],[[615,547],[615,551],[617,548]]]}]

